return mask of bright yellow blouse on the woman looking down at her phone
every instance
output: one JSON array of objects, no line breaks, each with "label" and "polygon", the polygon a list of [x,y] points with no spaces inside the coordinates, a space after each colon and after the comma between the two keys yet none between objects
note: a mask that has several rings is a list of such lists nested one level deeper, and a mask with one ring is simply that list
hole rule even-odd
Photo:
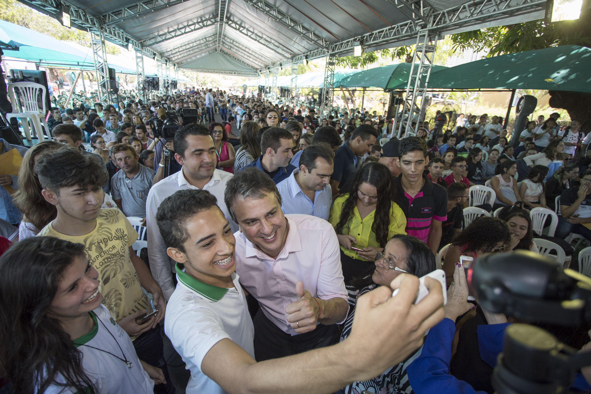
[{"label": "bright yellow blouse on the woman looking down at her phone", "polygon": [[[335,204],[333,204],[332,208],[330,209],[329,222],[335,228],[340,219],[340,212],[342,211],[343,205],[345,204],[345,201],[348,197],[349,193],[338,197],[335,200]],[[381,247],[379,242],[375,239],[374,232],[371,230],[372,225],[374,225],[374,215],[375,210],[362,220],[357,207],[353,208],[353,218],[349,221],[349,227],[343,228],[342,235],[353,235],[353,237],[356,238],[359,247]],[[390,207],[388,239],[394,237],[395,234],[406,234],[406,231],[404,231],[405,228],[406,217],[404,216],[404,212],[402,212],[402,209],[400,209],[398,204],[392,201],[392,206]],[[352,257],[353,259],[368,261],[363,259],[363,257],[358,256],[355,250],[345,249],[343,246],[340,248],[347,256]]]}]

